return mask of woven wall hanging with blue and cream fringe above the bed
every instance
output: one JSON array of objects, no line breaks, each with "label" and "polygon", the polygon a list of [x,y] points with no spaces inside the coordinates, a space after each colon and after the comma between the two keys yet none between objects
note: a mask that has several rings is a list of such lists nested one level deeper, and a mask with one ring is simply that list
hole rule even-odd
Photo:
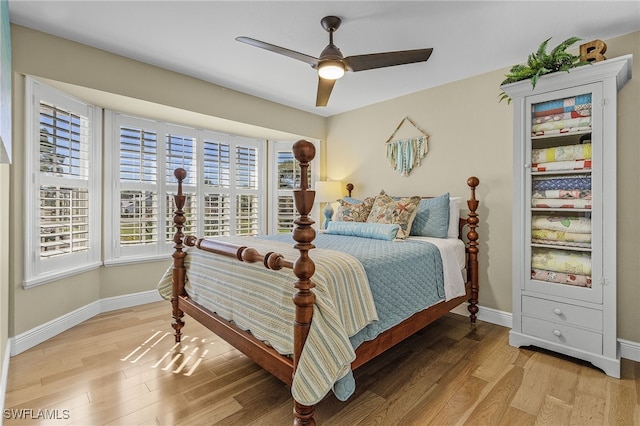
[{"label": "woven wall hanging with blue and cream fringe above the bed", "polygon": [[[400,127],[407,121],[418,129],[421,134],[408,139],[393,140]],[[428,140],[429,135],[414,123],[413,120],[409,117],[403,118],[386,142],[387,160],[391,168],[397,170],[402,176],[409,176],[411,170],[419,166],[424,156],[427,155],[429,151],[427,146]]]}]

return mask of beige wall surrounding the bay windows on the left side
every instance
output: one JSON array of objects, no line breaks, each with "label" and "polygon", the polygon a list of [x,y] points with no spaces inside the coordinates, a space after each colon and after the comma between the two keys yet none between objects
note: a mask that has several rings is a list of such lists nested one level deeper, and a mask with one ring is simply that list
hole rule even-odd
[{"label": "beige wall surrounding the bay windows on the left side", "polygon": [[[102,298],[152,290],[170,263],[167,257],[164,262],[101,267],[29,290],[22,288],[25,75],[61,82],[56,85],[100,106],[157,119],[247,136],[293,140],[299,135],[325,137],[325,119],[320,116],[21,26],[12,25],[11,31],[14,163],[9,212],[12,253],[9,297],[13,307],[9,333],[12,336]],[[2,259],[6,261],[4,256]]]}]

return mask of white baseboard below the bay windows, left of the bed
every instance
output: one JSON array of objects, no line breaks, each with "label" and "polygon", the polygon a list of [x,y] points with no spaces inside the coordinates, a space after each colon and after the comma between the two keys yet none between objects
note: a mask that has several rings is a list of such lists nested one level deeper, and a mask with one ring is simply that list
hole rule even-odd
[{"label": "white baseboard below the bay windows, left of the bed", "polygon": [[18,355],[19,353],[22,353],[27,349],[30,349],[103,312],[130,308],[132,306],[143,305],[145,303],[152,303],[160,300],[162,300],[162,298],[157,290],[100,299],[45,324],[39,325],[36,328],[12,337],[9,339],[10,343],[12,343],[11,356]]}]

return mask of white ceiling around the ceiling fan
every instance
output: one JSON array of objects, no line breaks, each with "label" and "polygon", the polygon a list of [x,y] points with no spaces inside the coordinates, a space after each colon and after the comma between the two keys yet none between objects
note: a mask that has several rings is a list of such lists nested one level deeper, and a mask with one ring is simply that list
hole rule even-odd
[{"label": "white ceiling around the ceiling fan", "polygon": [[[9,11],[16,24],[322,116],[522,63],[549,37],[553,47],[640,29],[637,0],[9,0]],[[235,41],[248,36],[318,57],[328,44],[326,15],[342,18],[334,43],[344,56],[433,54],[426,63],[348,72],[318,108],[309,65]]]}]

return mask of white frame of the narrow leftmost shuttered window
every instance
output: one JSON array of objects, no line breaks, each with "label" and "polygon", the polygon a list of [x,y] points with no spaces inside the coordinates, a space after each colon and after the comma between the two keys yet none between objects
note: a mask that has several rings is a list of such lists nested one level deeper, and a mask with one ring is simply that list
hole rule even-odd
[{"label": "white frame of the narrow leftmost shuttered window", "polygon": [[[54,89],[38,80],[25,78],[25,243],[23,287],[31,288],[101,266],[102,236],[102,109]],[[87,119],[87,161],[85,179],[43,176],[40,173],[40,104],[46,102]],[[51,258],[41,258],[40,198],[42,185],[86,188],[88,249]]]}]

